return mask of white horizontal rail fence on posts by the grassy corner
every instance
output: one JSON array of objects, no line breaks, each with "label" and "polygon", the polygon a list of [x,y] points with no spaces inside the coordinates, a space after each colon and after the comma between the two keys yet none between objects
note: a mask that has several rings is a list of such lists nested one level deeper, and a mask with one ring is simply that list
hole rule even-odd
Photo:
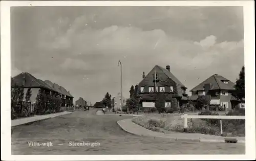
[{"label": "white horizontal rail fence on posts by the grassy corner", "polygon": [[212,115],[188,115],[184,114],[181,116],[184,118],[184,128],[187,128],[187,119],[220,119],[221,134],[222,134],[222,119],[232,120],[245,120],[245,116],[212,116]]}]

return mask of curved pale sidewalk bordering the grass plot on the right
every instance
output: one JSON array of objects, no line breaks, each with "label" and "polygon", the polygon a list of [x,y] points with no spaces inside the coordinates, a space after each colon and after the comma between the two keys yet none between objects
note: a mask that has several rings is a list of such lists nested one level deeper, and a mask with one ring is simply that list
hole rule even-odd
[{"label": "curved pale sidewalk bordering the grass plot on the right", "polygon": [[162,137],[172,141],[190,141],[190,142],[219,142],[225,143],[225,138],[237,139],[238,143],[245,143],[245,137],[223,137],[223,136],[215,136],[215,135],[206,135],[200,133],[161,133],[155,132],[152,130],[148,130],[140,125],[137,125],[132,122],[132,119],[124,119],[119,120],[117,124],[126,132],[140,135],[140,136],[148,136],[148,137]]}]

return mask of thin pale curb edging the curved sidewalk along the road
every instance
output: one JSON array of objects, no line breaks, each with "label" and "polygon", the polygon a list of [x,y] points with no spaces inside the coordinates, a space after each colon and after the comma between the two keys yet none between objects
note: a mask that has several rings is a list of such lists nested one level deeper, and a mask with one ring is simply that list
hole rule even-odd
[{"label": "thin pale curb edging the curved sidewalk along the road", "polygon": [[[124,119],[126,120],[126,119]],[[122,121],[122,120],[119,120],[119,121]],[[126,130],[124,127],[122,127],[119,123],[119,121],[117,121],[117,124],[121,127],[122,130],[126,131],[127,133],[130,133],[130,134],[133,134],[133,135],[137,135],[137,136],[146,136],[146,137],[158,137],[158,138],[164,138],[164,139],[168,139],[170,141],[174,141],[174,142],[197,142],[197,143],[200,143],[200,142],[207,142],[207,143],[225,143],[224,139],[223,140],[218,140],[218,139],[201,139],[200,137],[198,137],[198,139],[189,139],[189,138],[185,138],[185,137],[161,137],[161,136],[150,136],[150,135],[143,135],[143,134],[136,134],[136,133],[133,133],[133,132],[130,132],[128,130]],[[138,125],[138,124],[137,124]],[[140,125],[138,125],[140,126]],[[142,126],[141,126],[142,127]],[[144,127],[142,127],[144,128]],[[245,141],[239,141],[237,143],[245,143]]]}]

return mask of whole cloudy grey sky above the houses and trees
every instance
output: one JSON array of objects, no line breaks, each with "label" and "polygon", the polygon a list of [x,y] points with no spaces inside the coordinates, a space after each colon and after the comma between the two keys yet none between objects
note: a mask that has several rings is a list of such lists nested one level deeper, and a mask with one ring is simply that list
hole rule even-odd
[{"label": "whole cloudy grey sky above the houses and trees", "polygon": [[244,65],[241,7],[13,7],[11,75],[29,72],[92,103],[123,95],[155,65],[189,90]]}]

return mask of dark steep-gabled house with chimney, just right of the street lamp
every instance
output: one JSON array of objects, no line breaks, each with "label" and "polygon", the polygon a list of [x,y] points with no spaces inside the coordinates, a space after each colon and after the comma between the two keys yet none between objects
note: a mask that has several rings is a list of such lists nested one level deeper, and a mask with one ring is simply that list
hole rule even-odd
[{"label": "dark steep-gabled house with chimney, just right of the street lamp", "polygon": [[169,65],[166,68],[156,65],[138,84],[140,104],[143,108],[155,107],[157,95],[165,94],[165,107],[177,110],[187,103],[186,87],[171,72]]}]

